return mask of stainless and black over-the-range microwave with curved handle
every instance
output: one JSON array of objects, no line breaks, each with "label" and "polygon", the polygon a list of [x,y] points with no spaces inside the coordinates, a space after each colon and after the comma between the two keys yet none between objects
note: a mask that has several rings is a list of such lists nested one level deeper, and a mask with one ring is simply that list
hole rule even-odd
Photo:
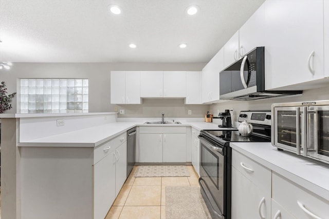
[{"label": "stainless and black over-the-range microwave with curved handle", "polygon": [[256,47],[220,72],[220,99],[248,101],[302,93],[300,90],[265,90],[264,51],[264,47]]}]

